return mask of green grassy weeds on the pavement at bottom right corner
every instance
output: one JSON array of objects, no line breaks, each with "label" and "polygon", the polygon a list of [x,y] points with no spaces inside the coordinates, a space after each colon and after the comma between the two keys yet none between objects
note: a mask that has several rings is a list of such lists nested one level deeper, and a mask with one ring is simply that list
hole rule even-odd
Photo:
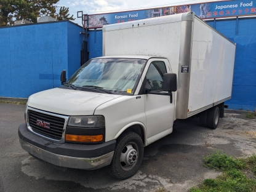
[{"label": "green grassy weeds on the pavement at bottom right corner", "polygon": [[204,157],[206,167],[222,170],[223,174],[215,179],[207,178],[198,187],[193,186],[191,192],[214,192],[214,191],[256,191],[256,180],[248,178],[242,171],[254,172],[256,175],[256,155],[249,158],[234,159],[220,151]]}]

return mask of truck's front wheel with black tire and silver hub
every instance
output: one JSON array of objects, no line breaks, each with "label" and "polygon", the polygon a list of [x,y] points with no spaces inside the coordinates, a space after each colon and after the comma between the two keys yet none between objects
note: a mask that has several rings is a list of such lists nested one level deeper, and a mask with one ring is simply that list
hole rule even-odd
[{"label": "truck's front wheel with black tire and silver hub", "polygon": [[134,175],[144,154],[142,138],[135,132],[121,135],[116,142],[116,149],[111,162],[111,172],[114,177],[126,179]]}]

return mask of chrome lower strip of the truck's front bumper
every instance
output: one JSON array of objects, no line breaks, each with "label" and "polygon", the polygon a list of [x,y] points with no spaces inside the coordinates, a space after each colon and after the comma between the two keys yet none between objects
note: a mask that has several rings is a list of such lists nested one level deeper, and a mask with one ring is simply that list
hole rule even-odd
[{"label": "chrome lower strip of the truck's front bumper", "polygon": [[46,150],[42,150],[37,146],[31,145],[30,143],[25,142],[21,138],[20,145],[23,150],[28,151],[28,153],[36,156],[43,161],[54,164],[55,166],[68,167],[73,169],[99,169],[100,167],[108,166],[113,158],[114,151],[104,154],[96,158],[75,158],[70,156],[63,156],[60,154],[54,154]]}]

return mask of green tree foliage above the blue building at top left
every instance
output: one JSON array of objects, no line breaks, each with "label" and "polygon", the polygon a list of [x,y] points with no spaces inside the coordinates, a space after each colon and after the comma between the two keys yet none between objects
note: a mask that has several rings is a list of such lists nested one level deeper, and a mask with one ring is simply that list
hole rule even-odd
[{"label": "green tree foliage above the blue building at top left", "polygon": [[37,17],[50,16],[58,20],[74,20],[70,17],[68,8],[60,7],[60,0],[0,0],[0,26],[14,25],[14,20],[28,20],[36,23]]}]

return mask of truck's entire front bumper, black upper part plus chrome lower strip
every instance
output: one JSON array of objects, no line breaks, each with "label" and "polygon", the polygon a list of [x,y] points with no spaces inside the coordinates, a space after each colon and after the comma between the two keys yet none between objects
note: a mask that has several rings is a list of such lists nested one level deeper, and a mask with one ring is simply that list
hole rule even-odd
[{"label": "truck's entire front bumper, black upper part plus chrome lower strip", "polygon": [[28,131],[25,124],[18,127],[23,150],[55,166],[74,169],[99,169],[108,166],[113,158],[116,140],[95,145],[54,143]]}]

